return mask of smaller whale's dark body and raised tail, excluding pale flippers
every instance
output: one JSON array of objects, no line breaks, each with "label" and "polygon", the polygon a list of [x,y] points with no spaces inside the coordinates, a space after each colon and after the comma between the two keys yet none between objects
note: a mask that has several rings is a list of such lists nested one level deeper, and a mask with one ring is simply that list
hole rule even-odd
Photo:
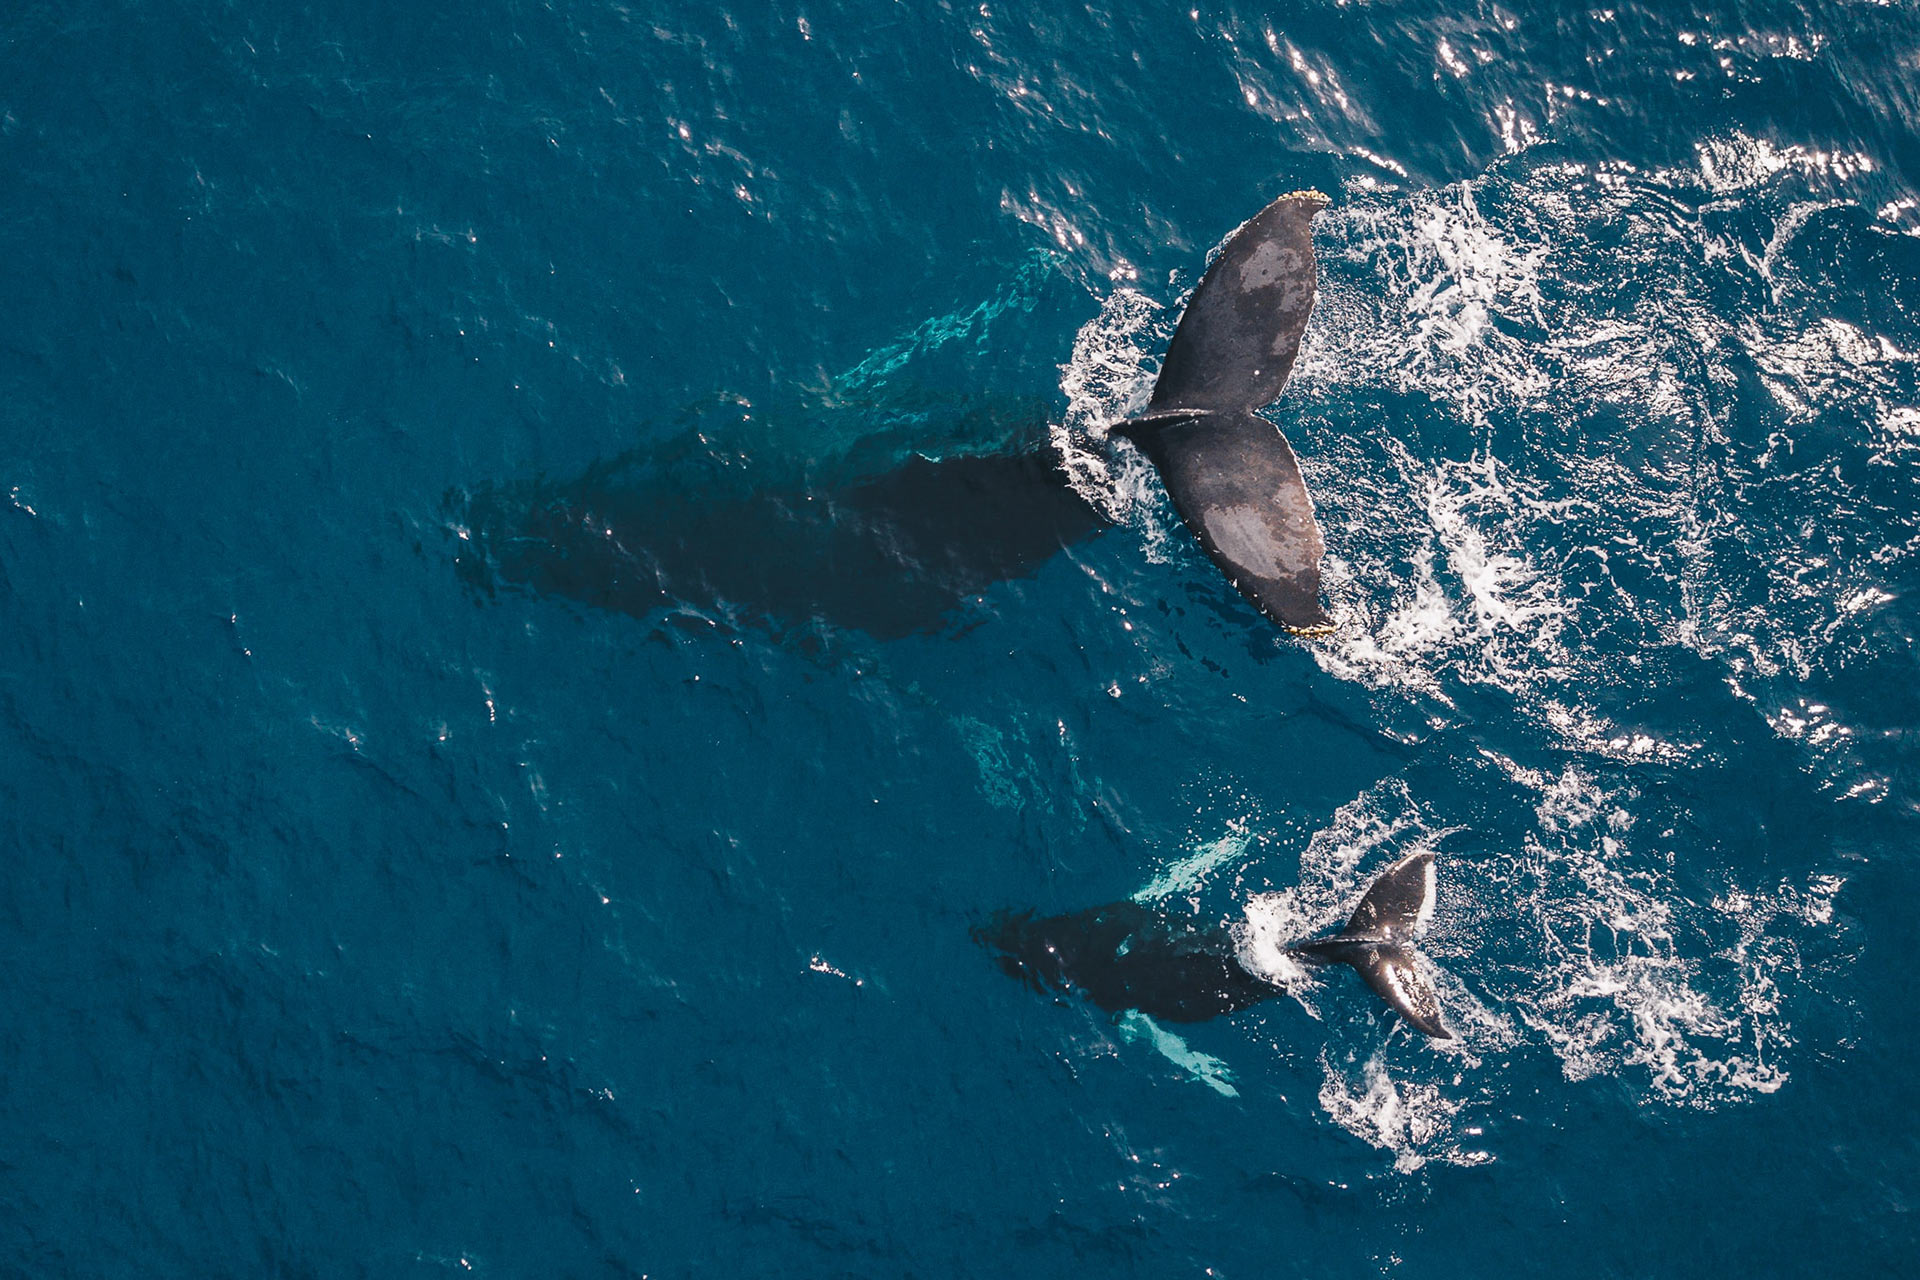
[{"label": "smaller whale's dark body and raised tail, excluding pale flippers", "polygon": [[[1415,1031],[1452,1040],[1440,1021],[1440,996],[1413,958],[1413,938],[1427,929],[1432,908],[1434,856],[1407,854],[1380,871],[1340,933],[1286,954],[1313,965],[1354,965]],[[1242,935],[1244,927],[1131,900],[1046,919],[1002,913],[973,931],[1002,969],[1037,990],[1077,992],[1112,1013],[1139,1009],[1171,1023],[1238,1013],[1284,994],[1240,960]]]}]

